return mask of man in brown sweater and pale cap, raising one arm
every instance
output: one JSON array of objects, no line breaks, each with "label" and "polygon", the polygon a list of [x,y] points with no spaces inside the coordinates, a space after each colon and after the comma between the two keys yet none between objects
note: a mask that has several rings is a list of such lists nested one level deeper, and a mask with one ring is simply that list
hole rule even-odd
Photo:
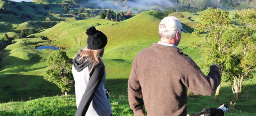
[{"label": "man in brown sweater and pale cap, raising one arm", "polygon": [[177,46],[181,31],[175,17],[159,25],[160,41],[140,51],[134,58],[128,80],[128,100],[134,116],[186,116],[187,93],[212,95],[220,84],[220,70],[213,63],[208,76]]}]

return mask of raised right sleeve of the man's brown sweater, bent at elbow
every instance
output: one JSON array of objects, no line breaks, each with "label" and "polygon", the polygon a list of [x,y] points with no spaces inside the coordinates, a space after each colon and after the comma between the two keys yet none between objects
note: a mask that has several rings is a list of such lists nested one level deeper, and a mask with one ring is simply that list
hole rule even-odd
[{"label": "raised right sleeve of the man's brown sweater, bent at elbow", "polygon": [[220,70],[218,66],[212,65],[208,76],[204,75],[196,63],[188,57],[188,65],[182,77],[182,83],[194,94],[212,95],[220,85]]}]

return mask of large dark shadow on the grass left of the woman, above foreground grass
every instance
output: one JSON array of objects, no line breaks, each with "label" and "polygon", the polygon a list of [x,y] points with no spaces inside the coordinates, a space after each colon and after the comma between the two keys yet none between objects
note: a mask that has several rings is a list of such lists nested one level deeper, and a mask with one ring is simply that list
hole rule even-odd
[{"label": "large dark shadow on the grass left of the woman, above foreground grass", "polygon": [[[61,95],[60,89],[38,75],[6,75],[0,78],[0,102],[27,101]],[[74,93],[72,88],[71,92]]]}]

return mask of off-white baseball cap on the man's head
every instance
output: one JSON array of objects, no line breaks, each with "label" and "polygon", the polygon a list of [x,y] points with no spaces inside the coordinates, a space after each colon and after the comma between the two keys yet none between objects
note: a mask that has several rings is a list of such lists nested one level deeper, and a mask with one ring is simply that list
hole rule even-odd
[{"label": "off-white baseball cap on the man's head", "polygon": [[[164,24],[166,28],[160,28],[161,24]],[[178,30],[182,30],[183,32],[187,33],[187,31],[182,28],[182,24],[180,20],[178,20],[174,16],[165,17],[159,24],[159,31],[178,31]]]}]

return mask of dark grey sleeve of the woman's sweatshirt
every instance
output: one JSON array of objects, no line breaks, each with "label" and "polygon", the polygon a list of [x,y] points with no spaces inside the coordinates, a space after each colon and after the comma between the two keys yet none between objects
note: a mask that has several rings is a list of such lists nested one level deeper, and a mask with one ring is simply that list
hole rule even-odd
[{"label": "dark grey sleeve of the woman's sweatshirt", "polygon": [[85,116],[90,106],[90,103],[92,102],[94,93],[103,79],[104,72],[104,65],[100,64],[95,66],[94,72],[89,79],[84,95],[82,96],[80,104],[78,105],[78,108],[76,110],[76,116]]}]

